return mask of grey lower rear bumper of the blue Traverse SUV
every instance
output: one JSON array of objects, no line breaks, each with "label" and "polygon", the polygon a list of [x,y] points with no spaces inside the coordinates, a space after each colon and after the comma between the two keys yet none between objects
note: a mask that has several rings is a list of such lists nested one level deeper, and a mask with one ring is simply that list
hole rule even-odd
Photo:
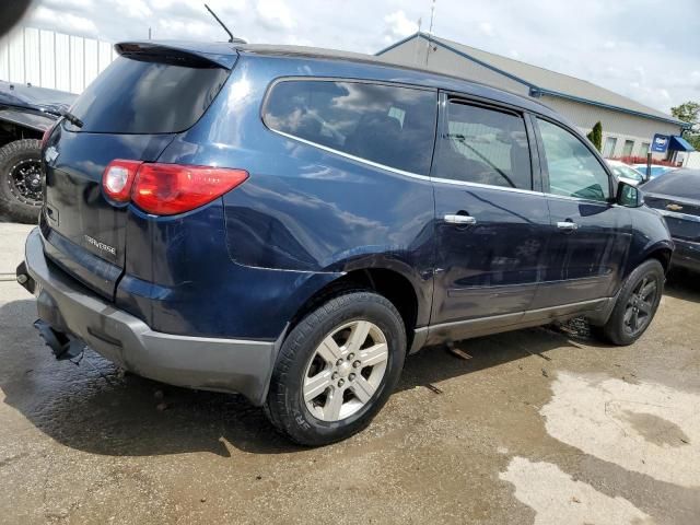
[{"label": "grey lower rear bumper of the blue Traverse SUV", "polygon": [[22,284],[36,295],[40,319],[124,369],[172,385],[237,392],[256,405],[265,401],[281,337],[256,341],[153,331],[47,261],[38,229],[26,240],[18,276],[23,272],[28,279]]}]

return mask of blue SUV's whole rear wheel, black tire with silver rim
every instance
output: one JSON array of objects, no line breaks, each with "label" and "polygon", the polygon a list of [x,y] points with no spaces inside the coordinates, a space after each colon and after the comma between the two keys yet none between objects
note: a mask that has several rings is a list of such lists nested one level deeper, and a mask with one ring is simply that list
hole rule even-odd
[{"label": "blue SUV's whole rear wheel, black tire with silver rim", "polygon": [[301,445],[345,440],[384,406],[405,358],[406,329],[396,307],[374,292],[343,293],[307,314],[282,343],[266,413]]}]

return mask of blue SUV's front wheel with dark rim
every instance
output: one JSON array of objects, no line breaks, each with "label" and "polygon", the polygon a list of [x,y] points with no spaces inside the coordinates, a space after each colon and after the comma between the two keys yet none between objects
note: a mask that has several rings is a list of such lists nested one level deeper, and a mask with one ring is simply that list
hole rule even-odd
[{"label": "blue SUV's front wheel with dark rim", "polygon": [[[658,260],[649,259],[638,266],[625,281],[608,322],[597,330],[603,339],[618,346],[637,341],[656,314],[664,291],[664,268]],[[652,288],[653,291],[650,292]]]}]

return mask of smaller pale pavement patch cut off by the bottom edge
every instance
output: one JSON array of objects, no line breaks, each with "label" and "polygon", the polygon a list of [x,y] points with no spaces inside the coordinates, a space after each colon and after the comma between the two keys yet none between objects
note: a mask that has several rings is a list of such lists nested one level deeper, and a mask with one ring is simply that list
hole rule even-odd
[{"label": "smaller pale pavement patch cut off by the bottom edge", "polygon": [[652,518],[625,498],[603,494],[551,463],[514,457],[499,476],[515,486],[515,498],[533,509],[535,525],[648,525]]}]

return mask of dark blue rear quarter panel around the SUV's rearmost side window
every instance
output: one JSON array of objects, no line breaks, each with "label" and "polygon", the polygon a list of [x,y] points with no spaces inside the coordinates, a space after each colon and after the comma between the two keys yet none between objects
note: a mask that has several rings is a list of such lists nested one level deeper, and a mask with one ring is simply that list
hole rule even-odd
[{"label": "dark blue rear quarter panel around the SUV's rearmost side window", "polygon": [[[433,270],[433,189],[410,177],[324,151],[268,129],[261,105],[280,77],[374,78],[401,82],[396,72],[316,59],[242,56],[223,96],[178,137],[160,162],[219,165],[249,178],[223,197],[225,247],[241,268],[268,276],[338,276],[362,268],[393,269],[418,296],[418,325],[430,317]],[[436,103],[436,94],[435,94]],[[431,148],[432,144],[425,144]],[[334,277],[334,278],[336,278]],[[320,279],[320,283],[327,279]],[[293,311],[314,293],[306,284],[245,298],[262,314],[267,305]],[[243,299],[234,294],[233,301]]]}]

